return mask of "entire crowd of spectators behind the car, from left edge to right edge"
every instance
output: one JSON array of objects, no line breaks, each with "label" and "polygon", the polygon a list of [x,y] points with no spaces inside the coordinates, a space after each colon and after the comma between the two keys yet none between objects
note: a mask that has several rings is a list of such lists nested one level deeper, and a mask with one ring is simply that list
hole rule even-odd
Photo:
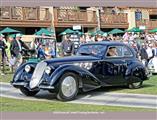
[{"label": "entire crowd of spectators behind the car, from left edge to right edge", "polygon": [[[7,37],[0,34],[0,74],[4,75],[4,63],[8,65],[10,70],[13,71],[23,63],[24,49],[36,51],[36,57],[40,59],[47,59],[53,57],[71,56],[76,53],[75,43],[71,40],[70,35],[65,35],[62,42],[56,49],[54,46],[46,51],[46,44],[40,43],[38,40],[32,41],[28,46],[21,40],[22,35],[8,35]],[[131,46],[137,53],[138,58],[147,67],[151,58],[157,56],[157,33],[128,33],[126,32],[121,36],[113,35],[95,35],[91,36],[88,33],[80,36],[79,45],[89,42],[100,41],[119,41]],[[24,49],[23,49],[24,48]]]}]

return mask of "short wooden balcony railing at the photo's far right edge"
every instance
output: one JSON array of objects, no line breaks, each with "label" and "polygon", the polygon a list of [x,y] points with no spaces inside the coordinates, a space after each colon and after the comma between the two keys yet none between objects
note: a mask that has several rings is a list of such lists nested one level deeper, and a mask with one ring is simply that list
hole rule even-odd
[{"label": "short wooden balcony railing at the photo's far right edge", "polygon": [[154,29],[157,27],[157,20],[142,20],[136,21],[136,26],[146,26],[148,30]]}]

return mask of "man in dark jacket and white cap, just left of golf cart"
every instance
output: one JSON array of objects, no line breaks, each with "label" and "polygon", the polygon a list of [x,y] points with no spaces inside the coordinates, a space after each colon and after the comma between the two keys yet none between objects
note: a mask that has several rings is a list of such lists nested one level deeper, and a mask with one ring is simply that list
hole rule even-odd
[{"label": "man in dark jacket and white cap, just left of golf cart", "polygon": [[27,45],[21,40],[22,35],[20,33],[16,34],[15,40],[12,41],[10,51],[12,57],[15,57],[14,66],[18,67],[22,64],[22,49],[29,49]]}]

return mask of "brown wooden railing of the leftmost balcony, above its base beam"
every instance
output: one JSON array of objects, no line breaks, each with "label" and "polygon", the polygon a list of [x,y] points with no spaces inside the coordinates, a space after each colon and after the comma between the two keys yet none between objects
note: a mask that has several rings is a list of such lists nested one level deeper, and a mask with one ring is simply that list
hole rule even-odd
[{"label": "brown wooden railing of the leftmost balcony, above its base beam", "polygon": [[[42,16],[41,17],[41,13]],[[1,20],[50,20],[48,9],[40,9],[38,7],[0,7]]]}]

